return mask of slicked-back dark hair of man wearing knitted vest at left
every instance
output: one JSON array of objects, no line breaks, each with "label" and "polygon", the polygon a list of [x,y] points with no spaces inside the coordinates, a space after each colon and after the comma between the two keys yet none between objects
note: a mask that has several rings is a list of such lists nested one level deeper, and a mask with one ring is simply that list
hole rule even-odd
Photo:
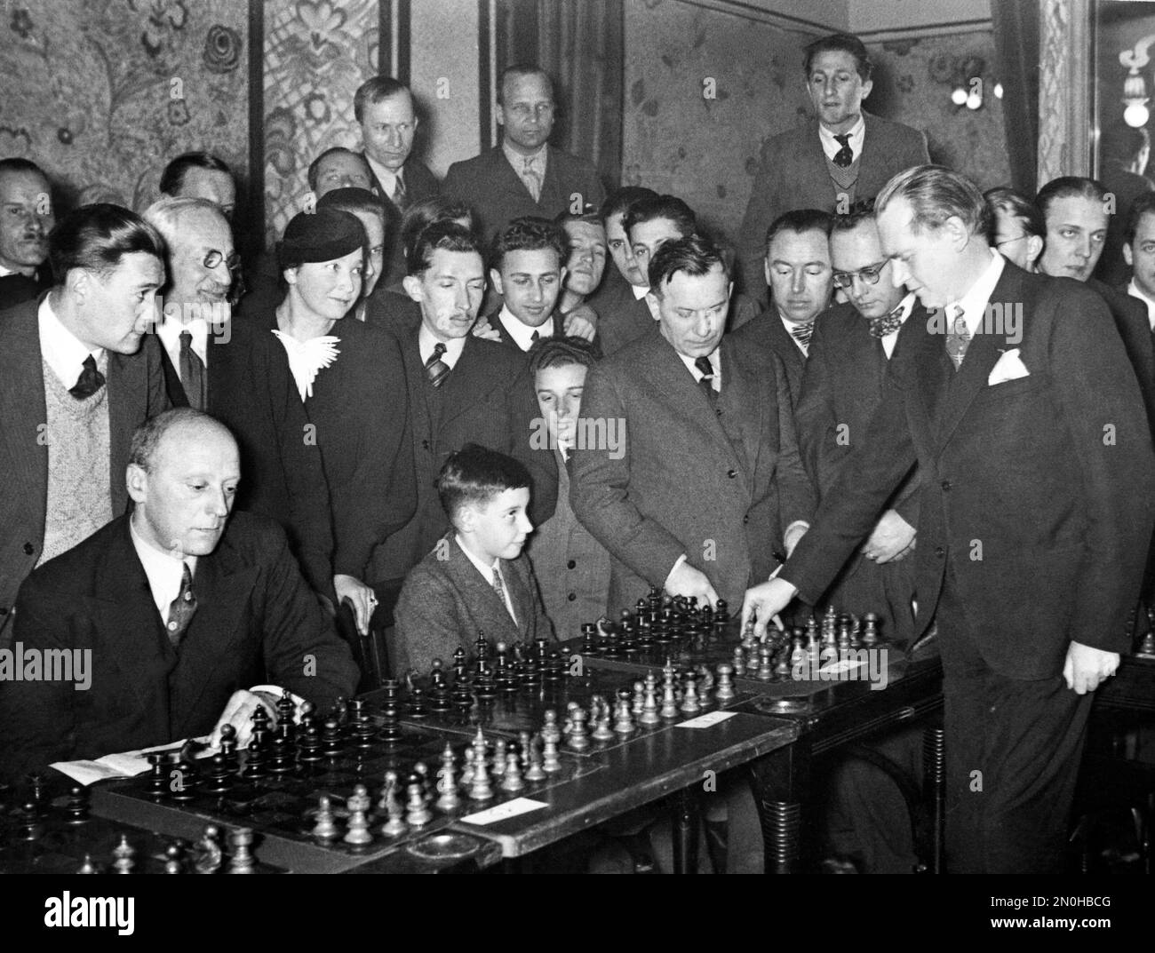
[{"label": "slicked-back dark hair of man wearing knitted vest at left", "polygon": [[73,268],[84,268],[102,281],[128,254],[144,252],[162,265],[164,239],[135,211],[97,202],[81,206],[61,218],[49,234],[49,260],[58,282]]}]

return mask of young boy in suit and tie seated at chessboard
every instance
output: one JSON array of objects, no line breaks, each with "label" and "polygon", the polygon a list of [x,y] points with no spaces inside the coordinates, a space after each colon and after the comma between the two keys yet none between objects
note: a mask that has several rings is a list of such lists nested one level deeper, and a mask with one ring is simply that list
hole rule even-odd
[{"label": "young boy in suit and tie seated at chessboard", "polygon": [[512,456],[468,444],[449,455],[438,477],[441,506],[453,528],[409,573],[397,600],[395,672],[427,672],[456,649],[472,654],[491,642],[554,640],[529,557],[522,550],[534,524],[529,470]]}]

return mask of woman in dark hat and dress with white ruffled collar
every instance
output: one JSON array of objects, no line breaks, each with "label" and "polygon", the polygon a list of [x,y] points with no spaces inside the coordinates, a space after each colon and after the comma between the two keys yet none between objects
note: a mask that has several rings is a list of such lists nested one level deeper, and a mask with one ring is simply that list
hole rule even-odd
[{"label": "woman in dark hat and dress with white ruffled collar", "polygon": [[[377,606],[365,571],[373,549],[417,506],[409,400],[396,342],[346,318],[362,292],[366,236],[346,211],[297,215],[277,244],[288,284],[263,321],[284,347],[329,482],[334,588],[360,632]],[[372,581],[368,581],[372,582]]]}]

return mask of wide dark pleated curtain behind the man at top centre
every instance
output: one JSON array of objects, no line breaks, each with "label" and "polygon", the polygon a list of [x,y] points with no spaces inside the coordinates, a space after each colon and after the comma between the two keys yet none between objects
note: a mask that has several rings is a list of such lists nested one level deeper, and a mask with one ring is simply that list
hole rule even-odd
[{"label": "wide dark pleated curtain behind the man at top centre", "polygon": [[550,142],[621,179],[624,0],[499,0],[497,69],[539,65],[554,83]]}]

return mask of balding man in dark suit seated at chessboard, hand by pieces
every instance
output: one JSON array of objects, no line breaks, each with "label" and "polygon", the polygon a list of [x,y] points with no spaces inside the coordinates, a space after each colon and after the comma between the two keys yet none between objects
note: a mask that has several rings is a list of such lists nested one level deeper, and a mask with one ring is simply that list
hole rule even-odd
[{"label": "balding man in dark suit seated at chessboard, hand by pieces", "polygon": [[352,694],[357,665],[284,531],[254,513],[230,519],[240,476],[236,440],[207,414],[178,408],[136,430],[132,514],[21,587],[22,676],[0,679],[6,780],[217,738],[225,724],[245,745],[258,706],[276,720],[282,688],[322,709]]}]

